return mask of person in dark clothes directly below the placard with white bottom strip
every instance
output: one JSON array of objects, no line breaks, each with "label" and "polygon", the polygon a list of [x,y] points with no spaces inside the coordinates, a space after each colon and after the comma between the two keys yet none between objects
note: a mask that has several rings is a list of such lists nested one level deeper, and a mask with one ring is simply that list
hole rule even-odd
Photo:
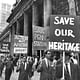
[{"label": "person in dark clothes directly below the placard with white bottom strip", "polygon": [[28,78],[28,70],[26,71],[28,67],[26,57],[21,57],[21,61],[17,67],[16,72],[19,72],[18,80],[29,80]]}]

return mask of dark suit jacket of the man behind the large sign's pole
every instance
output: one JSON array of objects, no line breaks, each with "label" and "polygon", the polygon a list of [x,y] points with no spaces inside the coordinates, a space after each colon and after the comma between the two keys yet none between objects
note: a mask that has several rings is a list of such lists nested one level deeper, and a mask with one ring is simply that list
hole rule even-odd
[{"label": "dark suit jacket of the man behind the large sign's pole", "polygon": [[[73,63],[70,63],[71,76],[64,70],[65,80],[80,80],[80,67]],[[62,64],[57,65],[56,67],[56,80],[62,78],[63,70]]]}]

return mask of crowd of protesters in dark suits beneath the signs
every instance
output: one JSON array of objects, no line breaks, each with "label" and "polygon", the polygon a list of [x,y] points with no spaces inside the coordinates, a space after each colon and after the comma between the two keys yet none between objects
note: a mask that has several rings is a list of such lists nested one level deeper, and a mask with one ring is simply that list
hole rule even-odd
[{"label": "crowd of protesters in dark suits beneath the signs", "polygon": [[[0,77],[5,67],[5,80],[10,80],[14,67],[16,73],[19,73],[18,80],[31,80],[35,77],[34,72],[40,73],[37,80],[79,80],[80,67],[73,53],[65,54],[65,78],[63,79],[63,58],[57,57],[56,53],[47,50],[41,58],[37,56],[16,56],[0,57]],[[66,63],[69,64],[69,73],[67,73]],[[71,67],[70,67],[71,65]],[[34,78],[35,79],[35,78]]]}]

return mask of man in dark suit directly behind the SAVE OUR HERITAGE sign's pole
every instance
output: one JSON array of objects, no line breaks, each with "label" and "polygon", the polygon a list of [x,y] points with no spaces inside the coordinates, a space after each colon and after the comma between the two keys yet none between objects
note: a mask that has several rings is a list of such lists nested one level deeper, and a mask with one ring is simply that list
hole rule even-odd
[{"label": "man in dark suit directly behind the SAVE OUR HERITAGE sign's pole", "polygon": [[[63,65],[61,62],[61,64],[58,64],[56,67],[56,79],[63,80],[62,74]],[[80,80],[80,67],[70,61],[70,53],[65,54],[64,76],[64,80]]]}]

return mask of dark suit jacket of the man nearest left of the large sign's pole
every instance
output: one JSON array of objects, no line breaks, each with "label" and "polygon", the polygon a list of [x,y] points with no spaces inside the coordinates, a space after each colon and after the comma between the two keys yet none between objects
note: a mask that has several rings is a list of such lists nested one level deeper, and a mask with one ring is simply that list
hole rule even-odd
[{"label": "dark suit jacket of the man nearest left of the large sign's pole", "polygon": [[42,61],[41,67],[38,66],[37,71],[40,72],[40,80],[53,80],[51,68],[47,67],[45,60]]}]

